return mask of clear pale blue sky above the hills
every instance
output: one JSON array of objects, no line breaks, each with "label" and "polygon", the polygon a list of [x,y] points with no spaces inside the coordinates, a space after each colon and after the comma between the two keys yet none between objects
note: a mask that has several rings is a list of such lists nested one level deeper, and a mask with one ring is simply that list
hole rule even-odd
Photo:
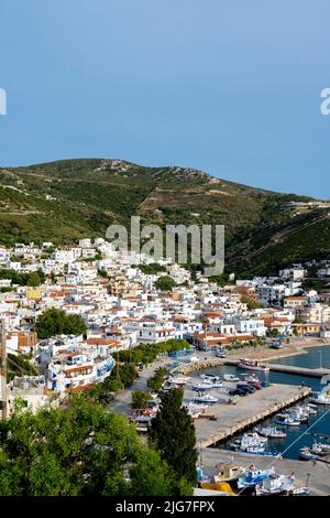
[{"label": "clear pale blue sky above the hills", "polygon": [[328,198],[329,0],[1,0],[0,165],[120,158]]}]

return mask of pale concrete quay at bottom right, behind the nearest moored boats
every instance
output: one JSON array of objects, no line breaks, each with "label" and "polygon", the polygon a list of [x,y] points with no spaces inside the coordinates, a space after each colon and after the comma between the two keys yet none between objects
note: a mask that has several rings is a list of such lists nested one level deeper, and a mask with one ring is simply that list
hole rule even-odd
[{"label": "pale concrete quay at bottom right, behind the nearest moored boats", "polygon": [[310,489],[311,496],[328,496],[330,493],[329,465],[322,462],[293,461],[292,458],[270,458],[263,455],[249,455],[241,452],[229,452],[207,447],[200,452],[204,472],[212,476],[219,473],[217,464],[235,464],[249,467],[252,463],[260,470],[275,467],[276,473],[284,475],[295,474],[296,485],[306,486]]}]

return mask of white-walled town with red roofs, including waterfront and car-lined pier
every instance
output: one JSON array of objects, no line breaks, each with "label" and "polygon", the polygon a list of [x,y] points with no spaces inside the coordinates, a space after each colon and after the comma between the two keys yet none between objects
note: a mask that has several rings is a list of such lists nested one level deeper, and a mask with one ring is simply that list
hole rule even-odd
[{"label": "white-walled town with red roofs, including waterfront and car-lined pier", "polygon": [[[295,367],[277,365],[276,358],[327,345],[330,338],[330,260],[293,265],[273,277],[240,279],[233,272],[221,282],[167,260],[153,262],[143,253],[114,250],[103,238],[85,238],[76,246],[58,248],[52,242],[15,244],[0,249],[0,260],[6,416],[13,412],[18,400],[37,411],[58,407],[73,393],[95,393],[96,387],[118,371],[122,354],[131,359],[145,344],[158,345],[156,356],[132,360],[132,382],[114,390],[109,409],[135,423],[143,440],[160,408],[160,389],[182,387],[198,444],[215,446],[272,416],[277,424],[290,425],[293,416],[278,412],[306,399],[311,389],[297,377],[295,385],[284,381],[275,392],[273,384],[262,384],[253,374],[241,379],[232,370],[220,379],[206,369],[228,365],[248,369],[248,375],[249,369],[270,368],[295,374]],[[52,310],[78,315],[84,331],[38,336],[37,322]],[[274,364],[265,364],[272,359]],[[330,373],[321,357],[318,369],[296,369],[296,374],[319,378]],[[158,387],[150,382],[157,376]],[[140,397],[145,395],[140,404],[133,402],[135,389]],[[304,408],[304,416],[316,413],[312,404]],[[271,430],[279,433],[276,428]],[[258,440],[252,436],[251,444],[241,447],[240,439],[231,449],[262,455],[265,446]],[[212,451],[221,451],[223,457],[224,450],[208,451],[205,458]],[[304,452],[308,458],[316,457],[310,449]],[[210,477],[202,476],[198,490],[213,489]]]}]

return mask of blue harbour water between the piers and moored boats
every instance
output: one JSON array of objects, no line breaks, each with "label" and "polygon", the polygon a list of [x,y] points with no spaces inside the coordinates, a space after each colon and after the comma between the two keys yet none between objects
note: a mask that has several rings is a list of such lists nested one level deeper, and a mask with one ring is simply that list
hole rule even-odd
[{"label": "blue harbour water between the piers and moored boats", "polygon": [[[314,347],[306,349],[307,354],[301,354],[297,356],[292,356],[288,358],[276,359],[276,364],[284,365],[295,365],[299,367],[310,367],[317,368],[327,367],[330,368],[330,346]],[[275,360],[274,360],[275,361]],[[207,374],[217,374],[223,376],[223,374],[242,374],[241,369],[235,367],[223,366],[217,368],[206,369]],[[200,373],[195,373],[194,376],[199,376]],[[309,378],[306,376],[297,376],[283,373],[255,373],[257,377],[264,381],[267,380],[273,384],[286,384],[286,385],[300,385],[304,382],[307,387],[310,387],[312,390],[320,390],[322,388],[319,378]],[[321,419],[320,419],[321,418]],[[264,424],[275,424],[275,418],[271,418],[264,421]],[[319,420],[319,421],[318,421]],[[316,421],[318,421],[310,430],[308,434],[305,434],[302,438],[298,439],[299,435],[311,427]],[[278,424],[276,424],[278,427]],[[280,427],[278,427],[280,428]],[[253,430],[253,428],[251,429]],[[286,440],[270,440],[268,450],[283,452],[283,457],[286,458],[299,458],[299,449],[306,445],[311,446],[315,439],[320,442],[326,442],[324,439],[320,440],[318,436],[311,435],[311,433],[323,433],[330,436],[330,408],[326,406],[318,406],[317,416],[311,416],[308,424],[301,424],[300,427],[285,427],[287,432]],[[238,435],[239,436],[239,435]],[[232,440],[232,439],[231,439]],[[297,442],[295,442],[297,441]],[[229,443],[224,442],[219,444],[220,449],[228,449]]]}]

